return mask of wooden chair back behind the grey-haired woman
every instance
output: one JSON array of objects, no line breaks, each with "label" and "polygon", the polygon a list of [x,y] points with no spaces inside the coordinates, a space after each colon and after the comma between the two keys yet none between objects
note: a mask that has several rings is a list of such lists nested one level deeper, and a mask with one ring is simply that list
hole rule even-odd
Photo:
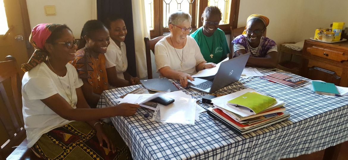
[{"label": "wooden chair back behind the grey-haired woman", "polygon": [[161,40],[163,37],[166,35],[159,36],[156,38],[153,38],[149,40],[149,37],[144,37],[144,42],[145,42],[145,51],[146,51],[146,65],[148,69],[148,79],[152,79],[152,65],[151,65],[151,52],[155,54],[155,45],[156,43]]}]

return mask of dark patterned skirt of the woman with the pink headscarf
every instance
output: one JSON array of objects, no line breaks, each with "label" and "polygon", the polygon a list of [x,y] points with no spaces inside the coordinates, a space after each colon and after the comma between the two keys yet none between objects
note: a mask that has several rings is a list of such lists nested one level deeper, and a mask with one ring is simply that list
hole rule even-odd
[{"label": "dark patterned skirt of the woman with the pink headscarf", "polygon": [[115,153],[108,150],[105,141],[100,146],[96,131],[86,122],[80,121],[70,122],[43,134],[31,149],[39,158],[48,160],[131,160],[129,148],[117,130],[107,123],[103,123],[103,128],[113,142]]}]

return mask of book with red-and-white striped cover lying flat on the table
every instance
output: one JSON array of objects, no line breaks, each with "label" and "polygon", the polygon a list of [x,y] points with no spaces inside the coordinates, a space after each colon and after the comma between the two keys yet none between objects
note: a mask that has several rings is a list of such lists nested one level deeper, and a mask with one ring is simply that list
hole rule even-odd
[{"label": "book with red-and-white striped cover lying flat on the table", "polygon": [[280,85],[288,86],[291,88],[301,87],[301,86],[309,83],[309,81],[302,80],[302,79],[295,78],[295,77],[290,77],[288,75],[280,74],[280,73],[272,73],[272,74],[268,74],[268,75],[265,75],[265,76],[260,77],[260,78],[266,79],[270,82],[279,83]]}]

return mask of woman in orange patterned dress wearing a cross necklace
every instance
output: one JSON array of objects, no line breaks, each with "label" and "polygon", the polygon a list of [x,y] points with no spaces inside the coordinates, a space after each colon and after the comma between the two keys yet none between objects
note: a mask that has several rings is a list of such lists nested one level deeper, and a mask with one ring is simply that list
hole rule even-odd
[{"label": "woman in orange patterned dress wearing a cross necklace", "polygon": [[109,31],[101,21],[89,20],[82,28],[81,39],[86,45],[75,53],[71,64],[84,82],[82,90],[88,104],[96,107],[102,92],[108,90],[104,53],[110,44]]}]

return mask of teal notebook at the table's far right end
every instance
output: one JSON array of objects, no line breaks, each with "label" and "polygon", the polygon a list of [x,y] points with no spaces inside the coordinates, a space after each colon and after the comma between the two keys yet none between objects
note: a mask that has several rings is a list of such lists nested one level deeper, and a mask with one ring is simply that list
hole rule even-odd
[{"label": "teal notebook at the table's far right end", "polygon": [[339,94],[336,86],[333,83],[312,81],[312,85],[313,85],[314,92],[317,94],[331,95],[331,96],[335,96]]}]

